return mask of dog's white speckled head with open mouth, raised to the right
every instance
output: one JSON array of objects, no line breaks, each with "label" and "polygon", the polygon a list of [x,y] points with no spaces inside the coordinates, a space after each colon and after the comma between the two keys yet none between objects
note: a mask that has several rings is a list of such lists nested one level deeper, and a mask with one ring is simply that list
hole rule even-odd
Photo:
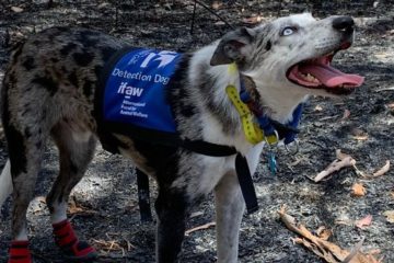
[{"label": "dog's white speckled head with open mouth, raised to the right", "polygon": [[309,13],[277,19],[254,28],[239,28],[220,41],[211,66],[236,62],[264,98],[278,95],[344,95],[363,82],[357,75],[331,66],[338,50],[354,41],[354,20]]}]

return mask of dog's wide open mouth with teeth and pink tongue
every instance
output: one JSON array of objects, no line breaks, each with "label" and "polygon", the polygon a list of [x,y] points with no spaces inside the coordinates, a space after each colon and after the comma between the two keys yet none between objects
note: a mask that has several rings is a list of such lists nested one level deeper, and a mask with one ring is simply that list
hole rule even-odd
[{"label": "dog's wide open mouth with teeth and pink tongue", "polygon": [[344,73],[331,66],[335,54],[349,46],[350,43],[345,43],[327,55],[298,62],[289,68],[286,76],[291,82],[308,89],[324,89],[337,95],[349,94],[362,84],[364,78]]}]

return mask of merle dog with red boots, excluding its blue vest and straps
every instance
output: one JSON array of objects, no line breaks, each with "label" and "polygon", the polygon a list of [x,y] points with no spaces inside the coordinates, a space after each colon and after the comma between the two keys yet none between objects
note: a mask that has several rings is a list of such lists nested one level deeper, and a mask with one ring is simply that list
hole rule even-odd
[{"label": "merle dog with red boots, excluding its blue vest and straps", "polygon": [[[231,31],[184,54],[175,69],[176,80],[170,80],[166,91],[177,134],[235,148],[254,173],[265,140],[247,140],[242,116],[225,88],[240,90],[246,79],[254,104],[280,124],[290,122],[297,106],[311,94],[347,95],[362,83],[362,77],[343,73],[331,61],[352,44],[354,27],[349,16],[315,20],[309,13],[296,14]],[[53,27],[13,52],[1,98],[9,160],[0,176],[0,204],[13,194],[9,263],[32,262],[25,216],[48,138],[60,152],[59,175],[47,196],[56,243],[67,259],[97,256],[73,232],[66,208],[71,190],[94,156],[100,130],[94,103],[103,68],[129,45],[96,31]],[[211,157],[120,133],[112,137],[114,149],[158,182],[157,262],[178,261],[190,207],[211,192],[218,262],[237,262],[245,204],[235,155]]]}]

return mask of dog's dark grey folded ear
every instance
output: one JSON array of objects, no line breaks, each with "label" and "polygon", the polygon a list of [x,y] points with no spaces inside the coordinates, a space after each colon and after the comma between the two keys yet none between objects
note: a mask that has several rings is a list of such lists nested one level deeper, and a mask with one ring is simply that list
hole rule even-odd
[{"label": "dog's dark grey folded ear", "polygon": [[253,42],[255,32],[252,28],[241,27],[227,33],[210,60],[211,66],[241,61],[246,56],[247,46]]}]

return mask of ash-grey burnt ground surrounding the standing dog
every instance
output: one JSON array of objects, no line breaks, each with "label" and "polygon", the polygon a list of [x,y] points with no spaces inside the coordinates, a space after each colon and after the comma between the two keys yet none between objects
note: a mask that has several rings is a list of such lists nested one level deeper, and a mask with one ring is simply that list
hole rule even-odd
[{"label": "ash-grey burnt ground surrounding the standing dog", "polygon": [[[167,49],[195,49],[220,37],[229,27],[198,7],[190,34],[193,1],[54,1],[2,0],[0,2],[0,77],[16,42],[54,25],[78,25],[129,38],[136,46]],[[230,1],[231,2],[231,1]],[[350,248],[366,237],[363,251],[380,249],[384,262],[394,262],[394,225],[383,213],[394,209],[394,172],[363,180],[352,169],[344,169],[331,179],[315,184],[314,176],[343,149],[358,161],[358,168],[372,172],[394,156],[394,3],[375,1],[232,1],[217,12],[234,26],[244,19],[263,21],[289,13],[312,11],[316,16],[350,14],[357,20],[355,45],[338,54],[335,64],[347,72],[366,77],[364,84],[345,100],[312,98],[301,125],[300,151],[289,155],[274,149],[280,171],[267,170],[267,155],[262,156],[255,186],[262,208],[245,216],[241,229],[240,262],[321,262],[299,244],[278,219],[277,210],[287,205],[310,229],[333,229],[331,241]],[[344,3],[346,2],[346,3]],[[12,7],[22,10],[12,11]],[[15,12],[20,11],[20,12]],[[389,90],[387,90],[389,89]],[[350,115],[343,118],[345,110]],[[0,165],[7,160],[4,139],[0,140]],[[57,152],[48,145],[36,192],[28,211],[32,249],[35,262],[62,262],[51,240],[48,210],[44,199],[54,181]],[[361,182],[367,194],[350,194],[355,182]],[[153,182],[151,184],[154,185]],[[154,187],[153,187],[154,195]],[[7,261],[10,239],[10,204],[1,210],[0,262]],[[215,219],[208,198],[195,208],[188,228]],[[372,215],[372,225],[363,230],[336,225],[338,219],[360,219]],[[154,224],[141,224],[136,195],[136,178],[129,161],[101,148],[86,176],[72,194],[70,217],[81,236],[100,251],[97,262],[154,262]],[[215,262],[215,229],[190,233],[185,238],[182,262]]]}]

